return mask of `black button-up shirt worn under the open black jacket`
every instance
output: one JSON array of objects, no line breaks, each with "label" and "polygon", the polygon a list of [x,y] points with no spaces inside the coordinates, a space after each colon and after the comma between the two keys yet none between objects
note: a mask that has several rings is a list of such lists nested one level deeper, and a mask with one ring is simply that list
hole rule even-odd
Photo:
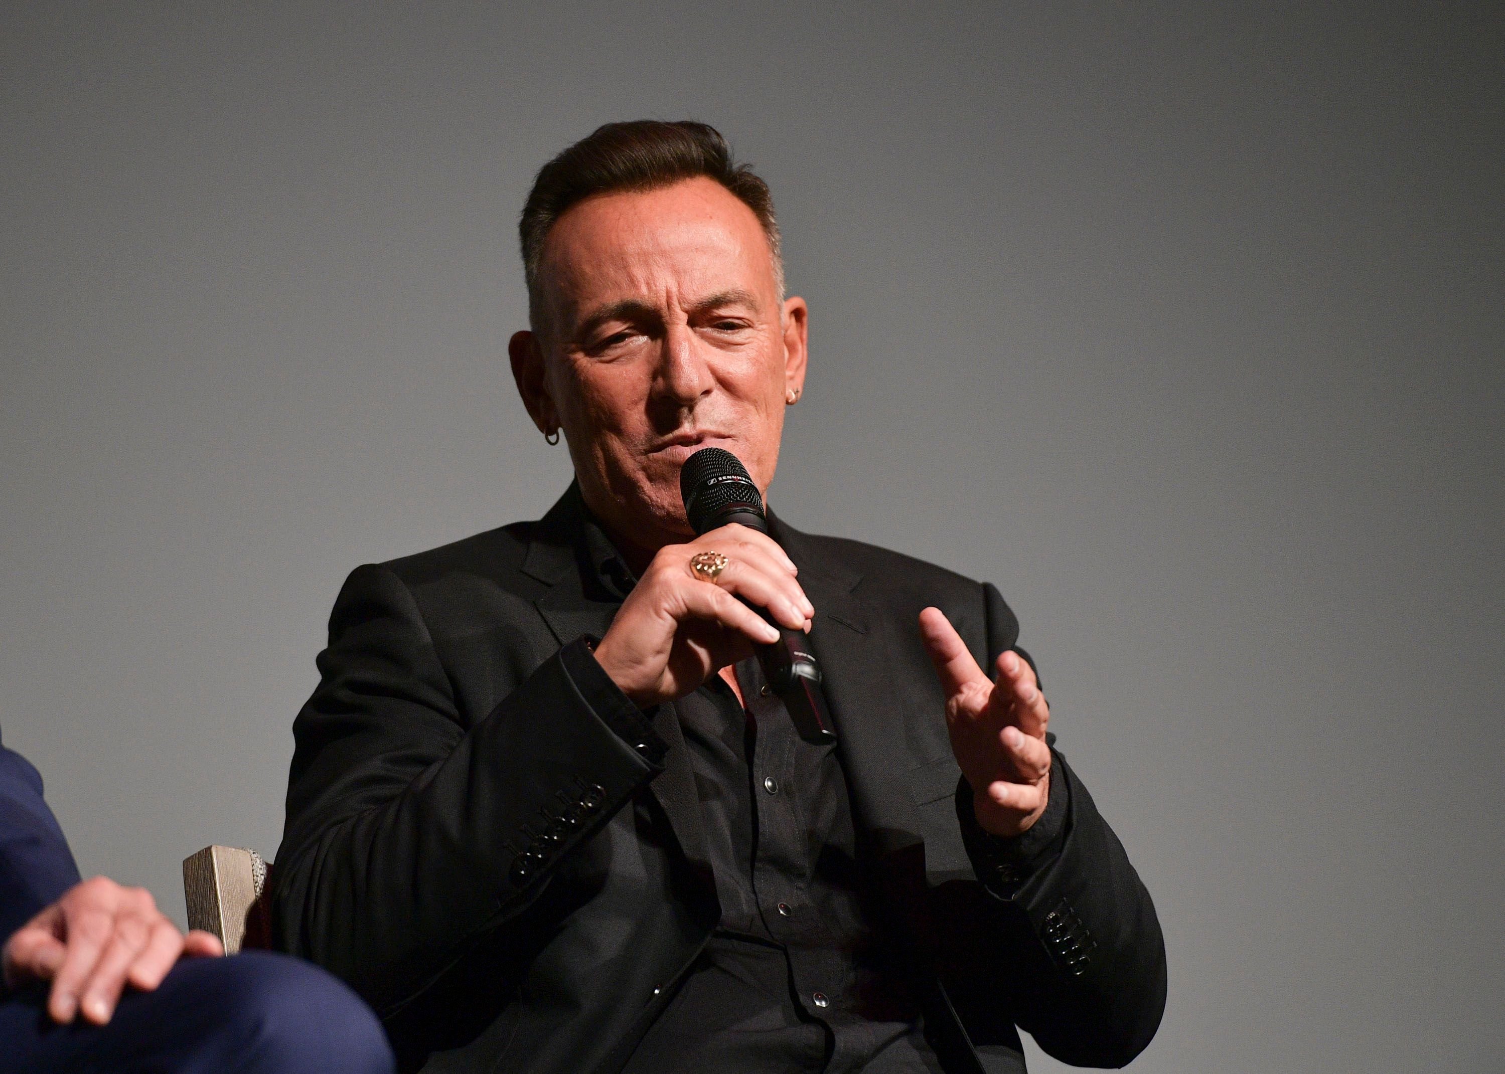
[{"label": "black button-up shirt worn under the open black jacket", "polygon": [[[625,599],[632,572],[593,522],[584,551]],[[746,710],[719,675],[676,702],[721,918],[626,1072],[941,1071],[837,748],[799,739],[756,659],[736,677]]]}]

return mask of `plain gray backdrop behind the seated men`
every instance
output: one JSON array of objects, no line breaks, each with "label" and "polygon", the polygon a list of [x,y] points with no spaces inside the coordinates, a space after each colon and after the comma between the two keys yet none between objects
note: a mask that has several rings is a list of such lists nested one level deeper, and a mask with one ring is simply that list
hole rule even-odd
[{"label": "plain gray backdrop behind the seated men", "polygon": [[0,724],[86,872],[275,850],[345,575],[567,480],[534,168],[694,116],[813,308],[775,502],[998,582],[1156,897],[1136,1068],[1505,1069],[1491,5],[126,8],[0,23]]}]

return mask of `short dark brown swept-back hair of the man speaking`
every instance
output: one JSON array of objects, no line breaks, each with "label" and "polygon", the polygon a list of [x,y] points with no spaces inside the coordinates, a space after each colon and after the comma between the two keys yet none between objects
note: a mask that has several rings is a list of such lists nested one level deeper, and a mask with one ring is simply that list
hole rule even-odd
[{"label": "short dark brown swept-back hair of the man speaking", "polygon": [[783,292],[784,263],[768,184],[752,173],[751,165],[733,161],[727,140],[707,123],[635,119],[597,126],[539,168],[533,181],[518,221],[533,326],[540,323],[539,262],[555,220],[593,194],[649,191],[697,176],[715,179],[759,218],[774,254],[775,281]]}]

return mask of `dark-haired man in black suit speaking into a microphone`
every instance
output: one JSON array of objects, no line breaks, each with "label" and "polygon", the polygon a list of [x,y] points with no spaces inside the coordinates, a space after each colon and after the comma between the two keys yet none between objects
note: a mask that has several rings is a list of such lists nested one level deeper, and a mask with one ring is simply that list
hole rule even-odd
[{"label": "dark-haired man in black suit speaking into a microphone", "polygon": [[[1165,1002],[1154,909],[998,591],[685,519],[709,445],[766,493],[804,391],[766,185],[709,126],[616,123],[543,167],[521,232],[512,369],[576,481],[346,582],[278,942],[435,1071],[1019,1071],[1016,1024],[1129,1062]],[[765,689],[751,606],[810,632],[837,746]]]}]

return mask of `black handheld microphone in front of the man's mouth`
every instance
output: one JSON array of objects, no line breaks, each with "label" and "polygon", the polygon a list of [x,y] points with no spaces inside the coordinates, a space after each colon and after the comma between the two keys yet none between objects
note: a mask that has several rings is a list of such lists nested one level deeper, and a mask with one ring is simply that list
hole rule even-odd
[{"label": "black handheld microphone in front of the man's mouth", "polygon": [[[685,517],[697,535],[731,522],[768,534],[763,496],[742,460],[730,451],[701,448],[689,456],[679,471],[679,495],[685,501]],[[820,665],[810,651],[810,641],[804,632],[775,623],[768,611],[752,611],[778,627],[778,641],[769,645],[754,642],[752,648],[763,665],[763,677],[789,708],[799,737],[817,746],[835,742],[831,713],[820,693]]]}]

